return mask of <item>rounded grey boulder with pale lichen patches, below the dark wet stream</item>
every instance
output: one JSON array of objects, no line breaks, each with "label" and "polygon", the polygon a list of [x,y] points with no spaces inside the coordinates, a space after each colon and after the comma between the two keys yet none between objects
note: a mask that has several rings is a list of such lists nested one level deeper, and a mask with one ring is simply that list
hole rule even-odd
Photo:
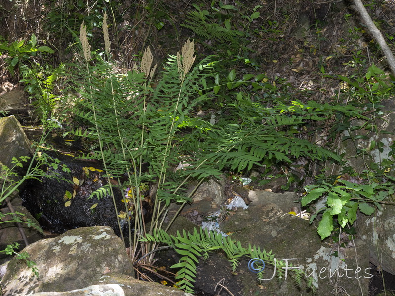
[{"label": "rounded grey boulder with pale lichen patches, below the dark wet stream", "polygon": [[121,239],[109,227],[86,227],[40,240],[23,252],[36,263],[34,276],[24,261],[12,259],[1,279],[3,296],[64,292],[88,287],[109,272],[133,274]]}]

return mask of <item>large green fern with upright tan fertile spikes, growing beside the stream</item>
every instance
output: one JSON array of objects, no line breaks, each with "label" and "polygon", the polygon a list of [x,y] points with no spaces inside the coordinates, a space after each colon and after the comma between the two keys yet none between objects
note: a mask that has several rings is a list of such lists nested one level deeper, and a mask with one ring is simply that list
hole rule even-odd
[{"label": "large green fern with upright tan fertile spikes, growing beside the stream", "polygon": [[[106,30],[103,26],[108,55]],[[144,51],[139,67],[122,72],[111,59],[92,54],[87,35],[82,24],[78,51],[83,53],[81,63],[86,70],[81,70],[81,64],[70,65],[76,69],[76,76],[70,77],[76,97],[67,105],[73,106],[70,114],[78,123],[71,133],[97,143],[97,149],[84,158],[101,159],[109,179],[108,187],[93,192],[91,197],[110,195],[115,205],[114,187],[123,190],[125,208],[114,207],[122,237],[123,226],[128,224],[135,267],[141,260],[152,262],[158,244],[174,246],[186,255],[181,265],[176,265],[182,268],[179,278],[184,279],[186,289],[192,289],[187,281],[192,282],[195,275],[197,257],[204,257],[208,251],[204,242],[209,238],[198,232],[166,236],[178,213],[166,226],[164,221],[172,203],[180,204],[181,211],[191,201],[194,190],[186,196],[183,189],[187,181],[197,179],[198,186],[225,169],[240,172],[264,164],[291,163],[298,157],[341,162],[335,153],[301,139],[300,130],[325,120],[328,114],[363,117],[352,106],[288,101],[275,94],[278,89],[266,83],[263,74],[244,74],[237,79],[236,69],[226,75],[223,71],[216,73],[212,56],[195,65],[194,43],[189,40],[181,52],[169,55],[153,84],[156,66],[150,49]],[[248,88],[265,96],[252,97]],[[222,94],[227,98],[219,105],[217,115],[194,116],[196,109]],[[273,99],[271,106],[264,102],[267,98]],[[183,163],[188,166],[176,169]],[[150,184],[149,221],[143,215],[146,196],[142,184]],[[215,239],[217,245],[210,242],[214,249],[231,245],[229,241],[219,247],[222,239]],[[232,246],[233,251],[244,250],[239,244]],[[236,266],[237,256],[232,260]]]}]

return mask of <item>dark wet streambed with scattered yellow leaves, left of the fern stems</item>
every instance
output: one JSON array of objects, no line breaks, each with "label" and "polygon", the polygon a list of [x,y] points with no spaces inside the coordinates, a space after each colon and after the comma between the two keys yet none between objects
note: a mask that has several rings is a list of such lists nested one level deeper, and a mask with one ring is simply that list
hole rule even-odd
[{"label": "dark wet streambed with scattered yellow leaves, left of the fern stems", "polygon": [[[42,130],[35,128],[25,132],[29,139],[37,139]],[[105,194],[100,200],[96,197],[89,199],[92,192],[108,184],[101,171],[102,164],[97,160],[78,158],[81,147],[74,145],[74,141],[65,140],[56,134],[51,136],[48,143],[52,147],[47,150],[47,154],[50,159],[57,159],[61,165],[66,165],[70,172],[62,171],[60,166],[57,169],[47,166],[46,174],[40,180],[30,179],[26,182],[24,190],[20,192],[23,205],[44,229],[51,232],[63,233],[77,227],[103,225],[112,227],[120,235],[111,196]],[[49,178],[56,174],[62,180]],[[112,181],[118,213],[125,212],[122,202],[124,195],[117,187],[118,182]],[[122,231],[126,232],[126,219],[123,219],[122,226]]]}]

